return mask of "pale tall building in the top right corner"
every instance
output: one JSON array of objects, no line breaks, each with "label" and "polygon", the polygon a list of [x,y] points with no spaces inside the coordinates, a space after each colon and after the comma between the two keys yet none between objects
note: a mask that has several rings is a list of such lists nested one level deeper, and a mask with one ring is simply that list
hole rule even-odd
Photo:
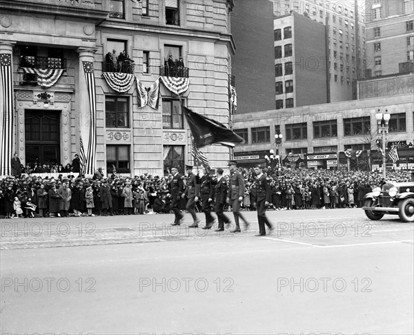
[{"label": "pale tall building in the top right corner", "polygon": [[414,1],[375,0],[365,12],[367,64],[373,77],[413,72]]}]

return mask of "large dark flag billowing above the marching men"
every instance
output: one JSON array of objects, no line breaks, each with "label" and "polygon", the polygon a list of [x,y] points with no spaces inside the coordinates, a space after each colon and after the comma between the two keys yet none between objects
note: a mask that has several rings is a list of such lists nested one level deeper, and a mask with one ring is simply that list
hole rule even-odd
[{"label": "large dark flag billowing above the marching men", "polygon": [[204,115],[199,115],[185,106],[182,106],[182,108],[197,148],[215,143],[233,148],[236,143],[244,143],[243,137],[230,131],[224,124]]}]

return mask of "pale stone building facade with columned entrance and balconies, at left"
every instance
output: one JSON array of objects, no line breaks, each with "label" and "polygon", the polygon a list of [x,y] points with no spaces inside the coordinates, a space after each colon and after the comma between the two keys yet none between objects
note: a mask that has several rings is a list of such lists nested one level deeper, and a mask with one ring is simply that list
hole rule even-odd
[{"label": "pale stone building facade with columned entrance and balconies, at left", "polygon": [[[79,134],[90,126],[85,61],[92,62],[96,83],[95,166],[104,172],[115,166],[130,175],[162,175],[172,165],[193,163],[180,99],[228,124],[233,0],[0,0],[0,6],[0,53],[12,55],[12,148],[23,164],[37,159],[65,166],[79,153]],[[128,61],[109,65],[112,50],[125,50]],[[170,72],[169,55],[174,68],[183,57],[182,70]],[[28,68],[63,73],[45,87]],[[178,97],[159,81],[158,108],[141,107],[136,83],[118,92],[105,73],[132,75],[147,90],[161,76],[188,78],[189,86]],[[229,157],[221,146],[201,151],[213,167]]]}]

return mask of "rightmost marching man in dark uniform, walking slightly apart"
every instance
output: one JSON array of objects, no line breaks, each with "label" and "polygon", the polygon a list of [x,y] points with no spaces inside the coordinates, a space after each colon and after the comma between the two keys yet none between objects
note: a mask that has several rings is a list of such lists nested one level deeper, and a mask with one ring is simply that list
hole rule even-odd
[{"label": "rightmost marching man in dark uniform, walking slightly apart", "polygon": [[272,189],[270,187],[270,180],[266,173],[263,173],[263,166],[256,165],[255,178],[256,195],[255,204],[257,206],[257,220],[259,221],[259,233],[256,236],[266,235],[266,226],[270,229],[269,233],[273,231],[273,226],[266,217],[266,207],[272,202]]}]

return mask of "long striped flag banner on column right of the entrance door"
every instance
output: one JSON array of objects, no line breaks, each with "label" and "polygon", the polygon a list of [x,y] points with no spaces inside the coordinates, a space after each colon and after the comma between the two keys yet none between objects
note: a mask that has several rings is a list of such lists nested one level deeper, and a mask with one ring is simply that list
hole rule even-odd
[{"label": "long striped flag banner on column right of the entrance door", "polygon": [[86,150],[86,174],[95,173],[95,153],[97,151],[97,102],[95,90],[95,73],[92,61],[82,61],[83,72],[85,73],[86,85],[88,87],[89,105],[90,105],[90,124],[88,148]]}]

